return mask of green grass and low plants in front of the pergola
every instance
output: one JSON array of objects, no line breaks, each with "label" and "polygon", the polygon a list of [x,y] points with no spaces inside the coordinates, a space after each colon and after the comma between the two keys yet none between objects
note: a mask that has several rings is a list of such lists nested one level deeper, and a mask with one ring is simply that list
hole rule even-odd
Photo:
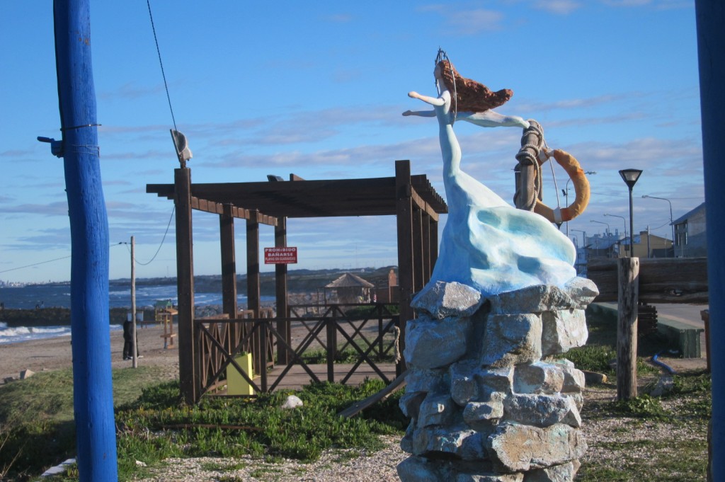
[{"label": "green grass and low plants in front of the pergola", "polygon": [[[178,382],[149,386],[152,378],[152,373],[141,369],[114,370],[120,481],[148,473],[168,457],[252,455],[269,462],[282,458],[312,461],[330,448],[374,451],[381,448],[378,436],[402,436],[408,423],[397,407],[399,394],[358,417],[336,415],[384,388],[384,382],[378,380],[358,387],[315,383],[294,392],[304,407],[281,410],[291,391],[257,399],[207,397],[189,407],[180,402]],[[140,396],[131,399],[137,392]],[[4,471],[11,480],[33,480],[49,466],[75,457],[70,370],[38,373],[0,387],[0,424],[0,443],[7,437],[0,451],[0,470],[7,467]],[[146,468],[139,467],[137,460]],[[235,470],[232,465],[220,469]],[[77,477],[77,470],[71,467],[66,475],[49,481]]]}]

